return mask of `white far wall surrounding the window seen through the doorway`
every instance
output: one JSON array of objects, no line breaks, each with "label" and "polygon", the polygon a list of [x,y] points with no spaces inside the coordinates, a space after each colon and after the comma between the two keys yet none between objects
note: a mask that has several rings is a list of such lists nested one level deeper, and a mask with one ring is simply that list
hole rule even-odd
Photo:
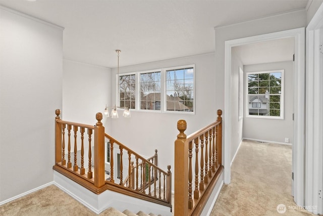
[{"label": "white far wall surrounding the window seen through the doorway", "polygon": [[[244,73],[279,70],[284,69],[284,119],[264,119],[246,117],[243,119],[243,137],[256,140],[266,140],[284,143],[285,138],[289,138],[290,143],[294,143],[294,85],[293,85],[293,62],[274,62],[266,64],[245,65]],[[246,75],[244,75],[244,86]],[[246,95],[246,90],[244,90]],[[246,98],[244,105],[246,106]]]}]

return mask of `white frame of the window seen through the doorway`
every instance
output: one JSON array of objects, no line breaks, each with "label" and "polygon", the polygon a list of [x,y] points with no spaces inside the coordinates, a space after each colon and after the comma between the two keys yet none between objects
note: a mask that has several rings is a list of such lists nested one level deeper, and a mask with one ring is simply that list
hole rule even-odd
[{"label": "white frame of the window seen through the doorway", "polygon": [[[277,73],[277,72],[281,72],[282,73],[282,86],[281,86],[281,101],[280,101],[280,116],[266,116],[266,115],[249,115],[249,94],[248,94],[248,75],[249,74],[255,74],[255,73]],[[280,120],[284,120],[284,86],[285,86],[285,82],[284,82],[284,69],[279,69],[279,70],[266,70],[266,71],[253,71],[253,72],[246,72],[246,85],[245,85],[245,115],[248,118],[264,118],[264,119],[280,119]],[[255,94],[258,95],[258,94]],[[262,95],[262,94],[260,94]],[[270,94],[272,95],[272,94]],[[275,94],[274,94],[275,95]],[[268,109],[269,110],[269,109]]]}]

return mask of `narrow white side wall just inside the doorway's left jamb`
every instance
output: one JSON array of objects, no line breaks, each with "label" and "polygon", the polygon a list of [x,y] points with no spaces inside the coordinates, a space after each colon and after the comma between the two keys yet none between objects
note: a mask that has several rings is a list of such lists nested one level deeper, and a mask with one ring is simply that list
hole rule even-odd
[{"label": "narrow white side wall just inside the doorway's left jamb", "polygon": [[242,141],[243,118],[239,119],[239,67],[243,64],[237,55],[235,49],[231,53],[231,161],[236,154],[239,144]]}]

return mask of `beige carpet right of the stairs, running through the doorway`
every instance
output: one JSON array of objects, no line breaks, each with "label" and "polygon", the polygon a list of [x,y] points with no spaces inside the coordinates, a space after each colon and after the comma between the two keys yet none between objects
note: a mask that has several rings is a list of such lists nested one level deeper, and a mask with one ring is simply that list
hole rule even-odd
[{"label": "beige carpet right of the stairs, running through the doorway", "polygon": [[243,141],[211,215],[314,215],[293,201],[291,164],[291,146]]}]

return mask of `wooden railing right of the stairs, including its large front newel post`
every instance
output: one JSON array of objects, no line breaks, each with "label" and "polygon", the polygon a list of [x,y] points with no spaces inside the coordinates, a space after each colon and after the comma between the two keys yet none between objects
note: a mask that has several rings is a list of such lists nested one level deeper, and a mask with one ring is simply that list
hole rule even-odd
[{"label": "wooden railing right of the stairs, including its large front newel post", "polygon": [[175,141],[175,216],[200,215],[223,171],[222,110],[218,110],[217,114],[217,121],[189,136],[184,134],[186,121],[177,122],[179,134]]}]

